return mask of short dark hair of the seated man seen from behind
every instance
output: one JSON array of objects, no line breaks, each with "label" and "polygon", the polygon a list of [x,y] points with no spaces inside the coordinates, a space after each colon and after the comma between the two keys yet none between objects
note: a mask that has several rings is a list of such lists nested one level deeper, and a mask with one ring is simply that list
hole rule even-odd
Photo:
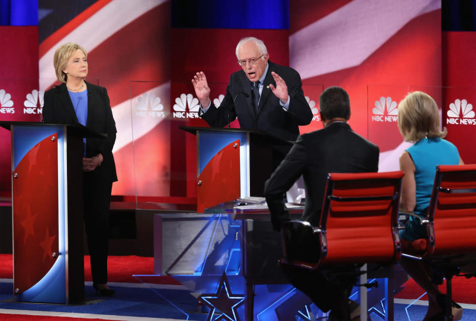
[{"label": "short dark hair of the seated man seen from behind", "polygon": [[319,97],[319,112],[321,118],[325,120],[333,118],[349,119],[351,116],[349,94],[337,86],[327,88]]}]

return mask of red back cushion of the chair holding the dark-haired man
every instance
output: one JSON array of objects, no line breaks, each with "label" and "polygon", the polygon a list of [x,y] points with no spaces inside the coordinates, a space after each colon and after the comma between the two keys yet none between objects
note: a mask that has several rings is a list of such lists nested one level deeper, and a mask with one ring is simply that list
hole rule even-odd
[{"label": "red back cushion of the chair holding the dark-haired man", "polygon": [[397,220],[404,173],[329,174],[321,216],[322,264],[400,258]]}]

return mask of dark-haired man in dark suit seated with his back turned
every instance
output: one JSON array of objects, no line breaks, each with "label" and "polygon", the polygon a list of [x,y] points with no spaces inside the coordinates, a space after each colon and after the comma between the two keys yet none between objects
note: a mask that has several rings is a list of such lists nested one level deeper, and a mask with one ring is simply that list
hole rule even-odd
[{"label": "dark-haired man in dark suit seated with his back turned", "polygon": [[[352,131],[347,123],[350,100],[340,87],[330,87],[319,97],[324,128],[297,138],[286,158],[265,184],[265,196],[273,228],[289,221],[283,202],[286,191],[303,175],[306,203],[302,220],[319,225],[328,173],[362,173],[378,170],[379,149]],[[307,248],[303,244],[303,248]],[[286,268],[291,283],[308,295],[331,320],[351,320],[349,300],[352,284],[338,287],[320,271]]]}]

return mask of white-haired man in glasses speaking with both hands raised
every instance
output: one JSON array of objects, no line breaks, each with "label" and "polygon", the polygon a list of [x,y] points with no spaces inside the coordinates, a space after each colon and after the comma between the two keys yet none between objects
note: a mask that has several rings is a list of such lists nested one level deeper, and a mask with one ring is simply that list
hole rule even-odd
[{"label": "white-haired man in glasses speaking with both hands raised", "polygon": [[295,140],[298,126],[312,120],[297,71],[272,63],[264,43],[253,37],[241,39],[236,54],[241,70],[231,75],[218,108],[211,103],[205,74],[199,72],[193,77],[201,117],[211,127],[224,127],[238,117],[242,129],[259,129]]}]

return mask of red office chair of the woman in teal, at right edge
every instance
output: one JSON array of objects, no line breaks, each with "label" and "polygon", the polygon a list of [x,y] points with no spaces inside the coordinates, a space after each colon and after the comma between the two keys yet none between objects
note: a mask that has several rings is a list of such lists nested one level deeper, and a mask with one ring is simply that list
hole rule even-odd
[{"label": "red office chair of the woman in teal, at right edge", "polygon": [[420,256],[402,254],[416,260],[431,261],[446,277],[447,320],[451,316],[451,279],[460,274],[467,254],[476,251],[476,165],[437,166],[426,220],[428,242]]}]

